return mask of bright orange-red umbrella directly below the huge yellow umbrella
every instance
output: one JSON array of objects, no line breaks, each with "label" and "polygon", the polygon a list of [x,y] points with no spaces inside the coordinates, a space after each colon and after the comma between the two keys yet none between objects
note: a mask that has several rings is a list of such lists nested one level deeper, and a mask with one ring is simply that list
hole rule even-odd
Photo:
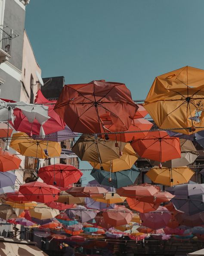
[{"label": "bright orange-red umbrella directly below the huge yellow umbrella", "polygon": [[145,138],[131,143],[140,157],[165,162],[181,157],[178,138],[170,137],[166,131],[149,131]]}]

